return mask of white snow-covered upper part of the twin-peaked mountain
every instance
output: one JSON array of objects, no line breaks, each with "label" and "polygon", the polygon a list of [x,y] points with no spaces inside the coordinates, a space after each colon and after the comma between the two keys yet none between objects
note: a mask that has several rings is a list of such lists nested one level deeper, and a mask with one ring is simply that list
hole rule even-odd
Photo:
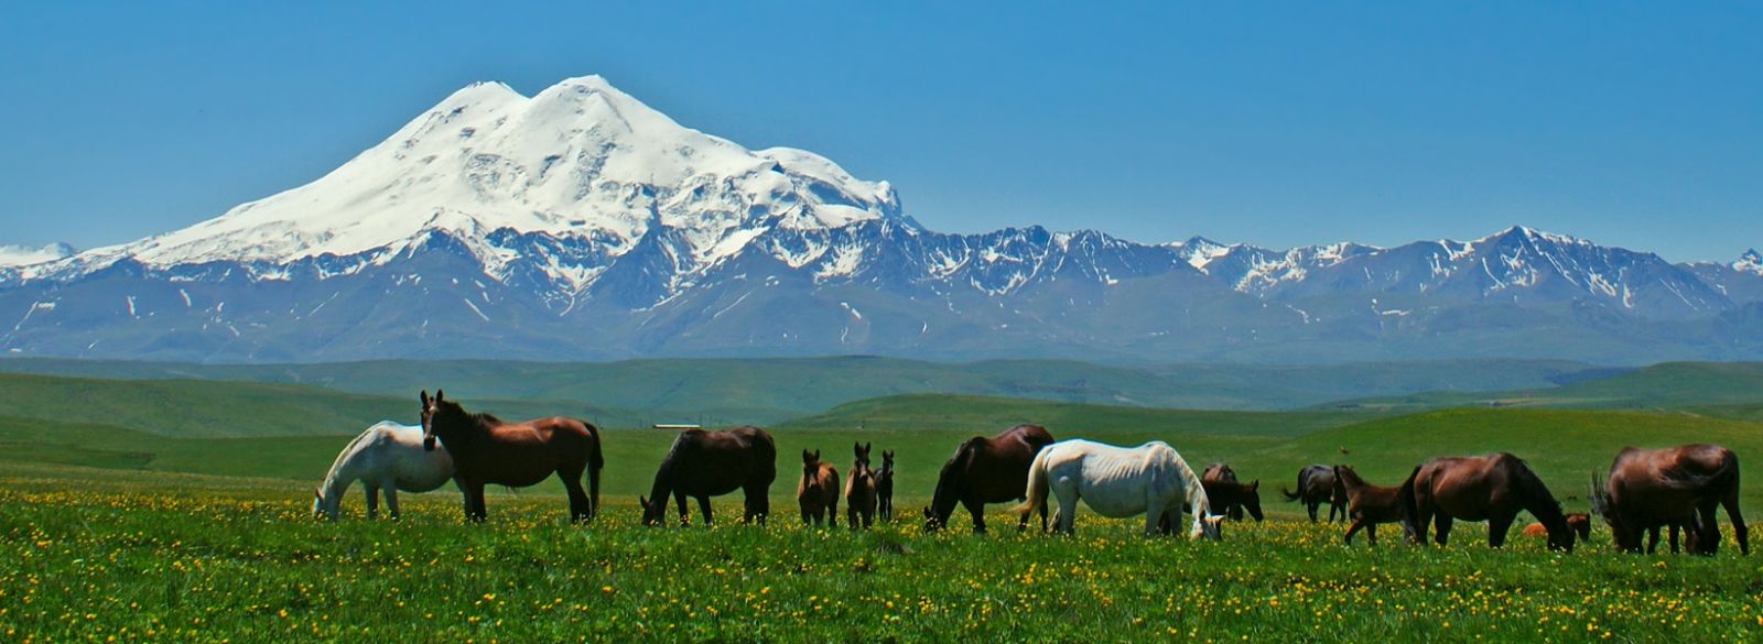
[{"label": "white snow-covered upper part of the twin-peaked mountain", "polygon": [[585,239],[610,257],[673,231],[675,250],[703,266],[770,227],[873,218],[901,218],[887,181],[800,150],[749,151],[584,76],[531,99],[472,83],[312,183],[62,267],[393,257],[430,231],[488,250],[483,238],[504,229]]}]

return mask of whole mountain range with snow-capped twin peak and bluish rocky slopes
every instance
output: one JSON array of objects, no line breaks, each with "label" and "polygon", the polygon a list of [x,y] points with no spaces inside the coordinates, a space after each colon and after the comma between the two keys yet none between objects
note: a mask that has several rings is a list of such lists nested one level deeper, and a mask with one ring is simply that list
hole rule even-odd
[{"label": "whole mountain range with snow-capped twin peak and bluish rocky slopes", "polygon": [[1763,257],[1511,227],[1291,250],[941,234],[887,181],[598,76],[455,91],[303,187],[134,243],[0,250],[0,350],[180,361],[892,354],[1763,355]]}]

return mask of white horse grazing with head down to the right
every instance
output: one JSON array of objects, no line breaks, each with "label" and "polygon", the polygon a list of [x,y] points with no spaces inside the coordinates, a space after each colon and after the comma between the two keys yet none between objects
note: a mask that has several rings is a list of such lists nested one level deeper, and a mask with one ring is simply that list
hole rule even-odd
[{"label": "white horse grazing with head down to the right", "polygon": [[[1181,519],[1181,503],[1194,507],[1190,538],[1220,538],[1211,500],[1188,463],[1167,443],[1153,440],[1139,447],[1114,447],[1090,440],[1063,440],[1035,454],[1028,466],[1028,501],[1019,512],[1044,509],[1047,489],[1060,498],[1053,514],[1054,530],[1070,533],[1077,517],[1077,500],[1104,517],[1123,519],[1144,514],[1144,533],[1157,535]],[[1164,519],[1169,523],[1164,523]]]}]

